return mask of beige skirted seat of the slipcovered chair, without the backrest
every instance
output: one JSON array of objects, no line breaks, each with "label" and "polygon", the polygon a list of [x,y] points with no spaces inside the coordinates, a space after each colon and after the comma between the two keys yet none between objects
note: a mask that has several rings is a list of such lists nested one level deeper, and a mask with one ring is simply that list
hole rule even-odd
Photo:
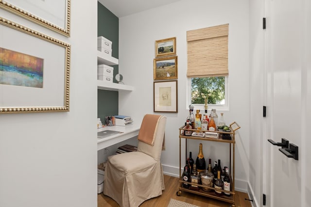
[{"label": "beige skirted seat of the slipcovered chair, without the backrest", "polygon": [[104,194],[121,207],[138,207],[164,190],[162,165],[143,152],[128,152],[108,158]]}]

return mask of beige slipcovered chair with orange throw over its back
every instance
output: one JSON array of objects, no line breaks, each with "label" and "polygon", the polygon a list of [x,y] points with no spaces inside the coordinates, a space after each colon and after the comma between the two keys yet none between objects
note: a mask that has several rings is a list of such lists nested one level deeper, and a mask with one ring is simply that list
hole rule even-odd
[{"label": "beige slipcovered chair with orange throw over its back", "polygon": [[165,125],[165,116],[146,114],[138,133],[137,152],[108,157],[104,194],[121,207],[138,207],[165,189],[160,163]]}]

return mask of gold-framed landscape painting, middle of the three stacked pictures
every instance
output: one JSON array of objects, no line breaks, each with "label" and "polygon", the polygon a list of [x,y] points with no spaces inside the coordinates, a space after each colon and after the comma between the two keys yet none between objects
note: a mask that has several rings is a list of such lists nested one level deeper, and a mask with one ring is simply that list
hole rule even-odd
[{"label": "gold-framed landscape painting, middle of the three stacked pictures", "polygon": [[154,59],[154,80],[177,79],[177,56]]}]

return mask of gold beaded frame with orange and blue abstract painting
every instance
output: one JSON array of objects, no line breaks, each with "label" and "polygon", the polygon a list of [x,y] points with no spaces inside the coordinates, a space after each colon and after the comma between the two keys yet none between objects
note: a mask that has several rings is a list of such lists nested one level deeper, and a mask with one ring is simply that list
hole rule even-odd
[{"label": "gold beaded frame with orange and blue abstract painting", "polygon": [[2,17],[0,31],[0,114],[69,111],[70,45]]}]

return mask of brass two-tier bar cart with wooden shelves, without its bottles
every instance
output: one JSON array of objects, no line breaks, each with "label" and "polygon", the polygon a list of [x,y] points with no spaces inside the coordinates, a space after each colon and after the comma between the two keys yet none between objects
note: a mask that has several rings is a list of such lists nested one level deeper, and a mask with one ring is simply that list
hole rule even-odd
[{"label": "brass two-tier bar cart with wooden shelves, without its bottles", "polygon": [[[203,186],[202,184],[195,184],[197,186],[199,186],[199,190],[191,190],[191,189],[187,189],[183,187],[183,183],[188,183],[191,184],[191,182],[186,182],[182,180],[182,175],[181,175],[181,171],[179,171],[179,190],[176,192],[176,195],[180,196],[182,194],[182,191],[185,192],[190,192],[190,193],[194,193],[197,195],[202,195],[202,196],[206,196],[209,198],[213,198],[213,199],[217,199],[217,200],[221,200],[221,201],[225,201],[227,203],[231,204],[231,207],[235,207],[235,191],[234,191],[234,167],[235,167],[235,131],[238,130],[240,128],[240,126],[236,123],[233,122],[230,125],[230,131],[213,131],[213,132],[217,132],[218,133],[218,139],[215,138],[207,138],[207,137],[194,137],[194,136],[185,136],[184,135],[184,128],[185,126],[182,126],[179,128],[179,169],[181,169],[181,140],[185,139],[186,142],[186,155],[187,155],[187,140],[202,140],[202,141],[207,141],[207,142],[219,142],[219,143],[228,143],[230,145],[230,152],[229,152],[229,165],[230,165],[230,179],[231,179],[231,188],[232,191],[225,191],[225,190],[218,190],[217,191],[222,191],[222,192],[227,192],[230,193],[229,196],[227,195],[217,195],[215,193],[215,188],[212,187],[207,187],[207,186]],[[187,129],[187,130],[191,130],[191,131],[198,131],[197,129]],[[200,132],[210,132],[208,130],[199,130]],[[222,135],[226,134],[227,138],[230,135],[229,139],[222,139]],[[228,135],[229,134],[229,135]],[[192,183],[193,184],[193,183]],[[201,187],[201,188],[200,188]],[[204,188],[208,188],[210,189],[210,191],[203,191],[202,187]]]}]

